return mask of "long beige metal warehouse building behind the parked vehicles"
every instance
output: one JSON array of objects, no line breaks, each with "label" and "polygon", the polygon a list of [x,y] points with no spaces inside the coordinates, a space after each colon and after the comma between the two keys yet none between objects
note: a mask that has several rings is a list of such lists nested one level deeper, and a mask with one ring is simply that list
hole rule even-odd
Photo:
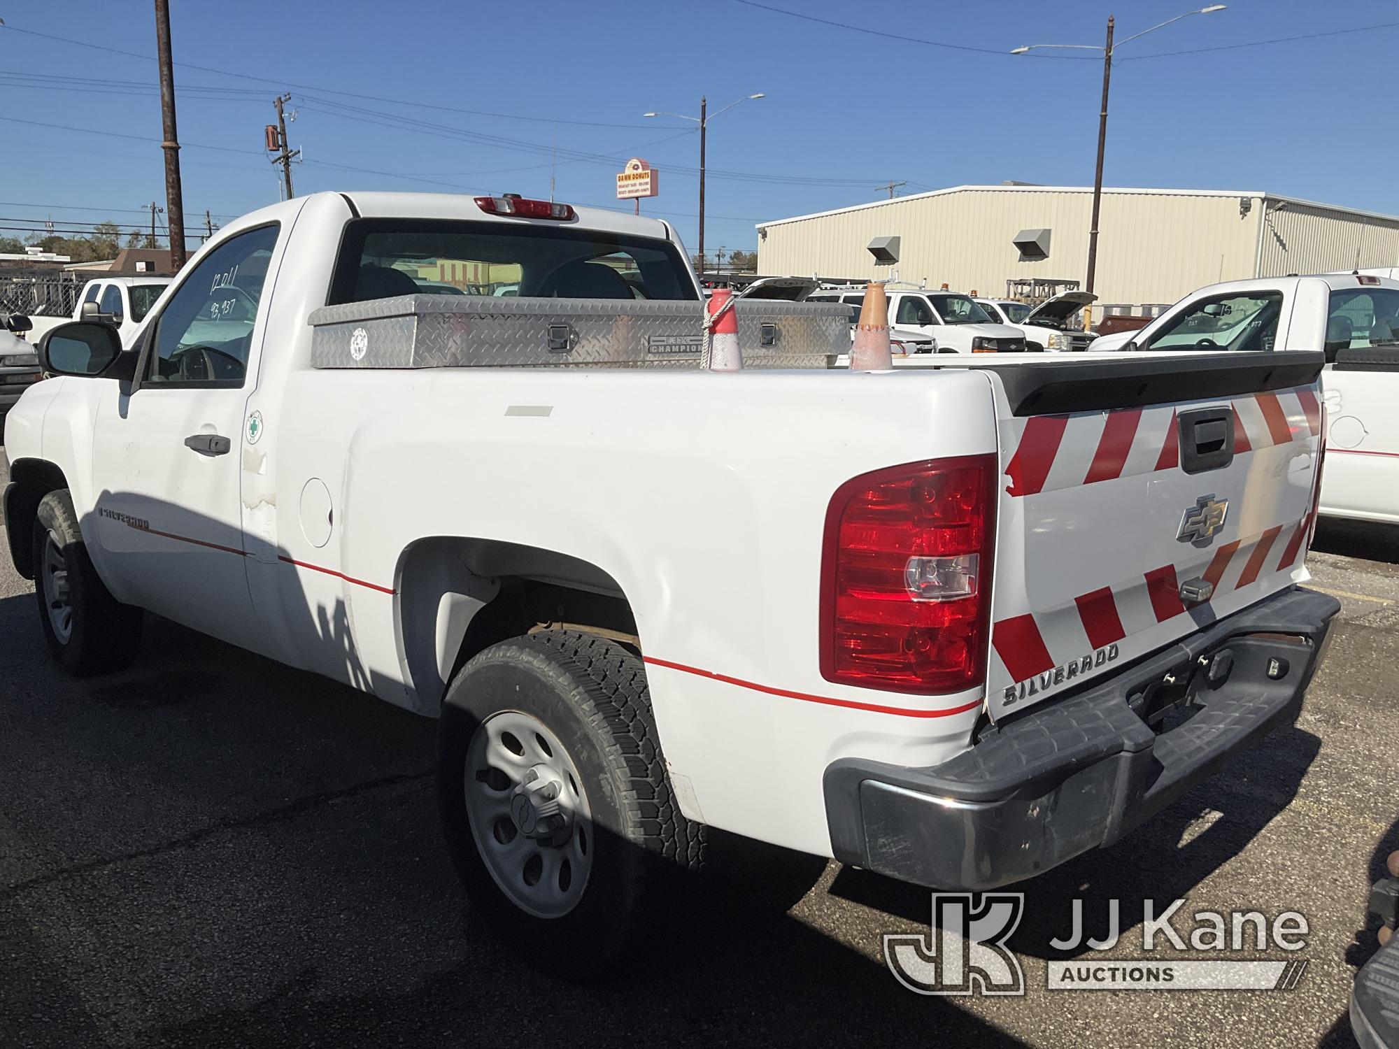
[{"label": "long beige metal warehouse building behind the parked vehicles", "polygon": [[[1084,278],[1091,187],[954,186],[758,225],[758,273],[867,274],[1002,295],[1010,278]],[[1104,189],[1094,291],[1175,302],[1205,284],[1399,264],[1399,218],[1259,192]],[[898,236],[900,262],[866,245]]]}]

